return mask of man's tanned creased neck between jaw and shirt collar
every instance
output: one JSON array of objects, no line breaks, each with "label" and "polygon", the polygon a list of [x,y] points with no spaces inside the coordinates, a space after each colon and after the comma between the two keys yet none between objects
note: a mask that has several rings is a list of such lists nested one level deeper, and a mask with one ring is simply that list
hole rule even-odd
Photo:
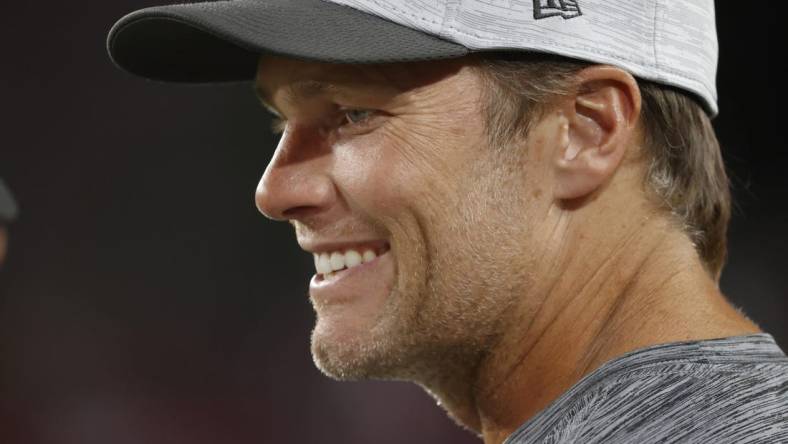
[{"label": "man's tanned creased neck between jaw and shirt collar", "polygon": [[567,231],[574,239],[566,245],[584,251],[559,255],[558,266],[542,265],[534,275],[550,277],[531,283],[507,333],[470,379],[428,387],[451,416],[485,443],[500,443],[616,356],[760,331],[725,300],[683,233],[664,218],[643,221],[615,225],[614,242],[610,233],[594,242]]}]

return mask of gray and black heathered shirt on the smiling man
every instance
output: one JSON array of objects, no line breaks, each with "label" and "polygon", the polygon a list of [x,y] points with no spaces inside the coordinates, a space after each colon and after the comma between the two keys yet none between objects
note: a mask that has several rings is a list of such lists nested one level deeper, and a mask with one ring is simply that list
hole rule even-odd
[{"label": "gray and black heathered shirt on the smiling man", "polygon": [[768,333],[606,362],[505,444],[788,443],[788,357]]}]

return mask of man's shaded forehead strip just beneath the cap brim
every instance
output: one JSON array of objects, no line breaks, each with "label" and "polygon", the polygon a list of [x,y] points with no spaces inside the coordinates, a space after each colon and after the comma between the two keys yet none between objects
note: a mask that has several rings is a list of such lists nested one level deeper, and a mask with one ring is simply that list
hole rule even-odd
[{"label": "man's shaded forehead strip just beneath the cap brim", "polygon": [[275,91],[291,96],[375,92],[395,95],[426,88],[456,74],[468,60],[386,64],[337,64],[277,56],[260,58],[255,89],[266,103]]}]

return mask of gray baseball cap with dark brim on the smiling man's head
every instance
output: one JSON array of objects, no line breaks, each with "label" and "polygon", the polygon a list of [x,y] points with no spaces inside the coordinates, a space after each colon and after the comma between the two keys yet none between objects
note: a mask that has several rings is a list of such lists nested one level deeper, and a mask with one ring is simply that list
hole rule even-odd
[{"label": "gray baseball cap with dark brim on the smiling man's head", "polygon": [[260,54],[336,63],[557,54],[682,88],[716,115],[713,0],[224,0],[146,8],[109,33],[149,79],[251,80]]}]

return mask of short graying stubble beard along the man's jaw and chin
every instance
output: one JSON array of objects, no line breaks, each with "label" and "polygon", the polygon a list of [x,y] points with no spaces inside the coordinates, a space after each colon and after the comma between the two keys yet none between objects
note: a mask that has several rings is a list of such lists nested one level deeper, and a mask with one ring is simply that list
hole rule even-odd
[{"label": "short graying stubble beard along the man's jaw and chin", "polygon": [[[512,228],[523,219],[498,210],[515,204],[501,192],[509,177],[488,176],[486,187],[473,181],[463,204],[450,210],[457,220],[474,223],[461,224],[435,245],[424,245],[429,239],[408,243],[420,245],[414,256],[422,259],[408,264],[406,279],[398,273],[371,328],[343,341],[313,330],[312,356],[323,373],[337,380],[399,379],[425,387],[442,384],[447,374],[473,377],[503,335],[526,272],[516,265],[522,258]],[[502,243],[506,239],[513,243]]]}]

